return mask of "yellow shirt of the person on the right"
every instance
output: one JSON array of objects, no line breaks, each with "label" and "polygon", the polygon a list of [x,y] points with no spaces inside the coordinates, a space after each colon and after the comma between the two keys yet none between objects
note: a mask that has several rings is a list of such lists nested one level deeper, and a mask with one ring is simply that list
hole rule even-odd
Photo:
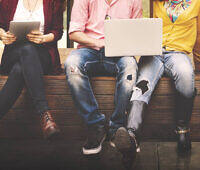
[{"label": "yellow shirt of the person on the right", "polygon": [[154,1],[154,18],[163,19],[163,47],[168,51],[191,53],[197,36],[197,17],[200,0],[192,0],[191,5],[172,22],[167,15],[164,1]]}]

